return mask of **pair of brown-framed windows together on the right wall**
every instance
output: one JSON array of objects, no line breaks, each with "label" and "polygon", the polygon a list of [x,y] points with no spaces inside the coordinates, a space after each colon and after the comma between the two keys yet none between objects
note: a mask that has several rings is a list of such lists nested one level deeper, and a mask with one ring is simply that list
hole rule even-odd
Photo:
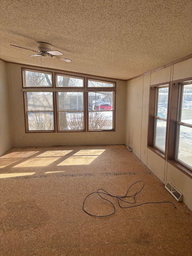
[{"label": "pair of brown-framed windows together on the right wall", "polygon": [[[169,92],[166,88],[163,84],[150,87],[148,148],[192,178],[192,78],[171,82]],[[165,104],[159,100],[164,93]],[[158,140],[158,131],[165,125]]]}]

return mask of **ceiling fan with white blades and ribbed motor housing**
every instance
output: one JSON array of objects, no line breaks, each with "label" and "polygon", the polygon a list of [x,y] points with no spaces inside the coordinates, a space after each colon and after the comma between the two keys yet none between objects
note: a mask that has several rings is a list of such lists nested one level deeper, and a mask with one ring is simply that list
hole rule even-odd
[{"label": "ceiling fan with white blades and ribbed motor housing", "polygon": [[36,54],[33,54],[33,55],[29,55],[29,57],[33,57],[33,56],[42,56],[42,57],[50,56],[53,59],[60,59],[62,61],[71,62],[70,59],[65,59],[65,58],[57,56],[57,55],[63,55],[63,53],[61,53],[59,51],[52,51],[51,50],[52,49],[52,45],[44,43],[44,42],[38,42],[38,50],[39,50],[39,52],[31,50],[31,49],[23,48],[23,47],[20,47],[20,46],[16,46],[16,45],[13,45],[13,44],[10,44],[10,45],[11,46],[15,46],[15,47],[19,47],[19,48],[22,48],[22,49],[30,50],[30,51],[33,51],[33,52],[36,53]]}]

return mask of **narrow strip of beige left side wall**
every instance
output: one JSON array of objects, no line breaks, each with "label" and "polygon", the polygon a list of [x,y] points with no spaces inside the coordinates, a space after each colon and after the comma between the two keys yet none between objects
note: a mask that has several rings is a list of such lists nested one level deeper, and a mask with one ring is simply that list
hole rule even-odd
[{"label": "narrow strip of beige left side wall", "polygon": [[0,155],[12,147],[6,64],[0,60]]}]

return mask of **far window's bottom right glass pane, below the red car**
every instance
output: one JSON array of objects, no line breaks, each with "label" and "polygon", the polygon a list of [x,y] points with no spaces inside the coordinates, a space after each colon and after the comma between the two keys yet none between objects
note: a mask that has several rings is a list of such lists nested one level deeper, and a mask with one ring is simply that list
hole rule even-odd
[{"label": "far window's bottom right glass pane, below the red car", "polygon": [[89,111],[89,130],[113,129],[112,111]]}]

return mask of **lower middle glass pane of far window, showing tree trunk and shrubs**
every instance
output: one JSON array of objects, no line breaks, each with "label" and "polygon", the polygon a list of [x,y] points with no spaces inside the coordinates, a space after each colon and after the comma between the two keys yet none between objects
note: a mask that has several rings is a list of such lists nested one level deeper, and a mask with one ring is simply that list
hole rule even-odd
[{"label": "lower middle glass pane of far window, showing tree trunk and shrubs", "polygon": [[59,112],[59,130],[83,130],[83,112]]}]

